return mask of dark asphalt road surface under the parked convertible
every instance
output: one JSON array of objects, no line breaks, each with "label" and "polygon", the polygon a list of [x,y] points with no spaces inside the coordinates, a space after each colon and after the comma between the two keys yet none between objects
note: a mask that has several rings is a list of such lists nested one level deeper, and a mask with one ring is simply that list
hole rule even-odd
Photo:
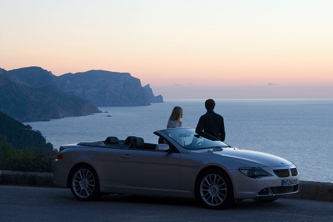
[{"label": "dark asphalt road surface under the parked convertible", "polygon": [[0,221],[333,221],[333,202],[278,199],[209,210],[193,199],[138,195],[76,200],[70,189],[0,185]]}]

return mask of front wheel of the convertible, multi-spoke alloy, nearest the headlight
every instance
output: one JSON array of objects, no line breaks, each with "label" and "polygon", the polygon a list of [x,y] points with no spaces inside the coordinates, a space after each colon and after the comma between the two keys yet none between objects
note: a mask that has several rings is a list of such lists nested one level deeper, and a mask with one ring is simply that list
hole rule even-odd
[{"label": "front wheel of the convertible, multi-spoke alloy, nearest the headlight", "polygon": [[223,209],[234,201],[230,178],[217,169],[201,174],[196,184],[196,192],[200,202],[209,209]]}]

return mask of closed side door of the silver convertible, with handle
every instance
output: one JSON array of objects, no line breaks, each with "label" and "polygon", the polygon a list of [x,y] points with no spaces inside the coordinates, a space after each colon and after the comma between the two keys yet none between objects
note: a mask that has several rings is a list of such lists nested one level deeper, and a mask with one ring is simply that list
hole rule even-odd
[{"label": "closed side door of the silver convertible, with handle", "polygon": [[152,150],[122,150],[121,178],[128,186],[179,189],[180,154]]}]

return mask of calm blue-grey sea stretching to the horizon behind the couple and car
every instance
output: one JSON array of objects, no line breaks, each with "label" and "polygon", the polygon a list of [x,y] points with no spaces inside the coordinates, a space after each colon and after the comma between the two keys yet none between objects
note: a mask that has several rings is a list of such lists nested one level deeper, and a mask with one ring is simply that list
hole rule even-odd
[{"label": "calm blue-grey sea stretching to the horizon behind the couple and car", "polygon": [[[24,124],[41,131],[55,148],[105,140],[108,136],[138,136],[145,142],[157,143],[153,132],[166,128],[174,106],[183,108],[183,127],[195,128],[206,112],[204,101],[165,99],[164,103],[151,106],[98,107],[108,113]],[[289,159],[297,165],[301,180],[333,183],[333,99],[215,102],[214,111],[224,118],[227,144]]]}]

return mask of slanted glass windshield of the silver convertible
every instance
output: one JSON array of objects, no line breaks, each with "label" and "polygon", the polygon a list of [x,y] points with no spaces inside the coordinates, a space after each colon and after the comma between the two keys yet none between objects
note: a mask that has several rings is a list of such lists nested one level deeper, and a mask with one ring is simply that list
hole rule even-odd
[{"label": "slanted glass windshield of the silver convertible", "polygon": [[187,150],[230,147],[215,137],[195,129],[177,128],[161,131]]}]

